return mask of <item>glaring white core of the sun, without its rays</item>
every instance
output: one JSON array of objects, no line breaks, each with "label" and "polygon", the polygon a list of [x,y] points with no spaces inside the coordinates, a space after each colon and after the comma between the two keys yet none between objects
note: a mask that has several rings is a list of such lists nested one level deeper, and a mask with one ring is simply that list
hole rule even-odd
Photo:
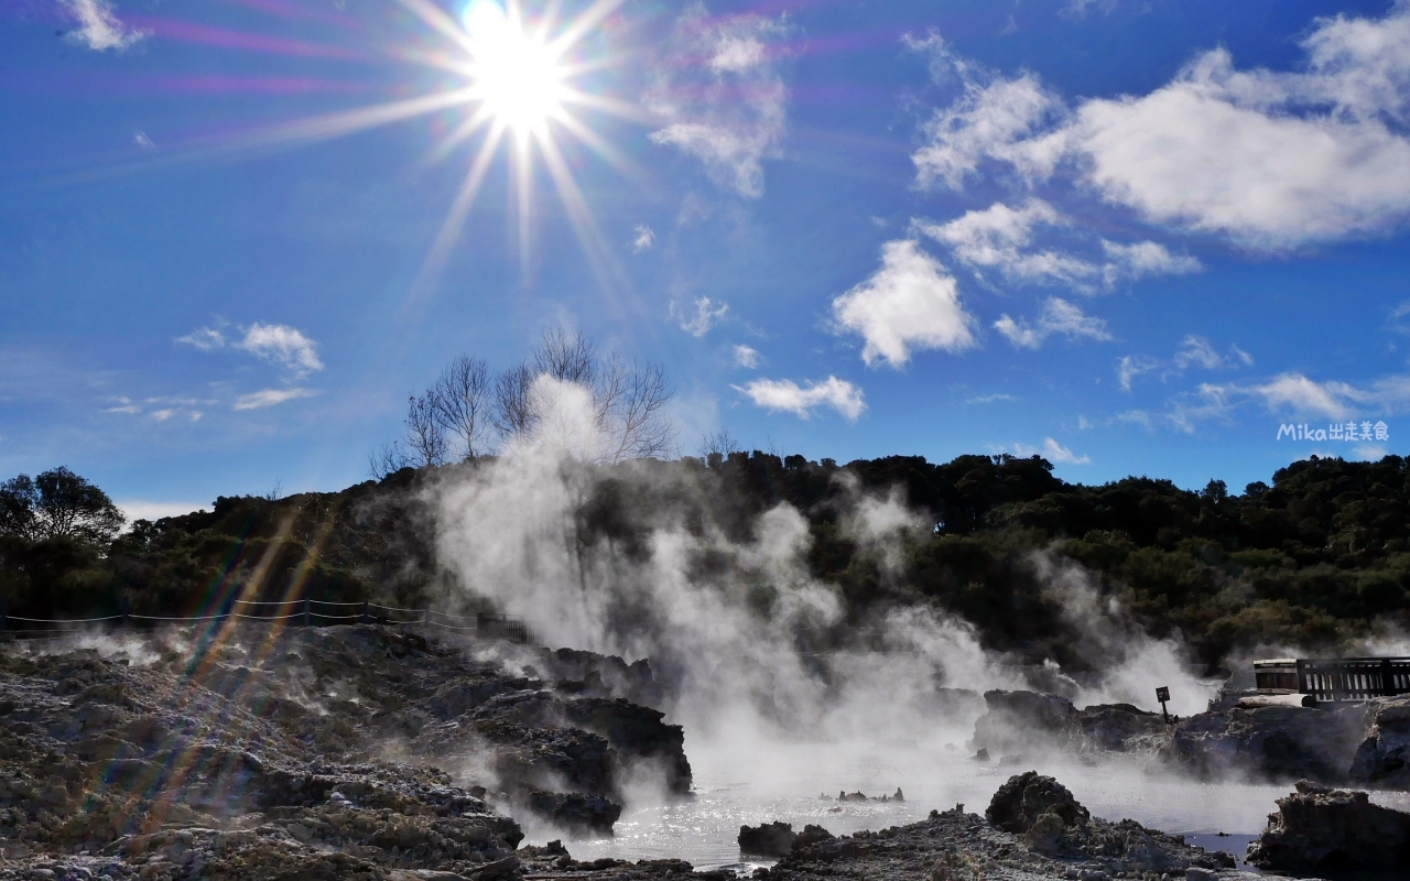
[{"label": "glaring white core of the sun, without its rays", "polygon": [[568,97],[563,48],[525,27],[516,7],[475,0],[461,16],[472,100],[495,123],[523,137],[543,137],[550,120],[563,120]]}]

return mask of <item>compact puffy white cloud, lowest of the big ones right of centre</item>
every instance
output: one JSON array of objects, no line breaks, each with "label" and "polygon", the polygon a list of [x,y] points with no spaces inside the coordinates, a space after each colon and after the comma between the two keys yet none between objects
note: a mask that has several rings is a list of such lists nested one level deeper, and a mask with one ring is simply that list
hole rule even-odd
[{"label": "compact puffy white cloud, lowest of the big ones right of centre", "polygon": [[832,314],[839,328],[866,340],[867,365],[884,358],[900,368],[912,350],[957,352],[974,345],[955,279],[907,238],[881,245],[881,268],[835,299]]}]

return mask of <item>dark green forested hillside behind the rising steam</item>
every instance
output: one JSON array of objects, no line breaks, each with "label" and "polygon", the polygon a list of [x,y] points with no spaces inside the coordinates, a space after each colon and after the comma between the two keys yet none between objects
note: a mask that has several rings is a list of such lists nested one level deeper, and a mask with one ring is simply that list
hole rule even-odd
[{"label": "dark green forested hillside behind the rising steam", "polygon": [[[334,493],[219,498],[209,512],[121,534],[111,517],[102,529],[20,529],[25,500],[6,496],[0,598],[31,617],[202,615],[237,595],[436,602],[453,577],[436,560],[431,491],[492,461],[402,468]],[[663,523],[749,538],[760,513],[787,502],[808,519],[808,565],[836,586],[849,626],[926,603],[1035,661],[1081,663],[1035,551],[1086,567],[1141,627],[1179,632],[1211,670],[1255,647],[1338,650],[1399,627],[1410,606],[1410,460],[1396,455],[1313,457],[1242,495],[1220,481],[1200,492],[1152,478],[1067,483],[1039,457],[1008,455],[838,465],[754,451],[575,468],[591,476],[574,512],[585,547],[609,540],[646,554]],[[894,488],[932,526],[902,538],[900,569],[888,571],[842,520],[859,492]]]}]

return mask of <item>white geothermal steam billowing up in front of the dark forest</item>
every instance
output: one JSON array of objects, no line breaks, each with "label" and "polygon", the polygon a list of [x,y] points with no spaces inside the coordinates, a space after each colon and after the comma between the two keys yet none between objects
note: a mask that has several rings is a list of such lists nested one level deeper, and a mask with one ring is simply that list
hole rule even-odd
[{"label": "white geothermal steam billowing up in front of the dark forest", "polygon": [[[629,462],[609,478],[591,465],[603,448],[591,395],[548,376],[533,395],[533,434],[434,489],[441,560],[467,592],[451,603],[489,598],[547,644],[650,658],[674,686],[673,716],[692,739],[963,740],[973,713],[956,715],[939,689],[1031,686],[1022,668],[983,650],[970,624],[926,606],[869,622],[857,640],[864,647],[811,651],[808,634],[839,624],[843,612],[838,589],[809,575],[808,522],[788,505],[761,513],[746,538],[708,520],[687,524],[675,507],[642,544],[592,538],[584,505],[599,481],[625,482],[626,493],[666,479],[674,492],[705,489],[653,462]],[[900,489],[867,495],[850,475],[839,479],[849,499],[840,529],[878,579],[901,578],[902,544],[928,526],[924,517]],[[1180,644],[1145,636],[1079,567],[1048,554],[1034,565],[1081,634],[1081,651],[1107,671],[1072,684],[1079,705],[1149,706],[1155,686],[1169,685],[1172,710],[1204,708],[1211,686],[1190,674]]]}]

